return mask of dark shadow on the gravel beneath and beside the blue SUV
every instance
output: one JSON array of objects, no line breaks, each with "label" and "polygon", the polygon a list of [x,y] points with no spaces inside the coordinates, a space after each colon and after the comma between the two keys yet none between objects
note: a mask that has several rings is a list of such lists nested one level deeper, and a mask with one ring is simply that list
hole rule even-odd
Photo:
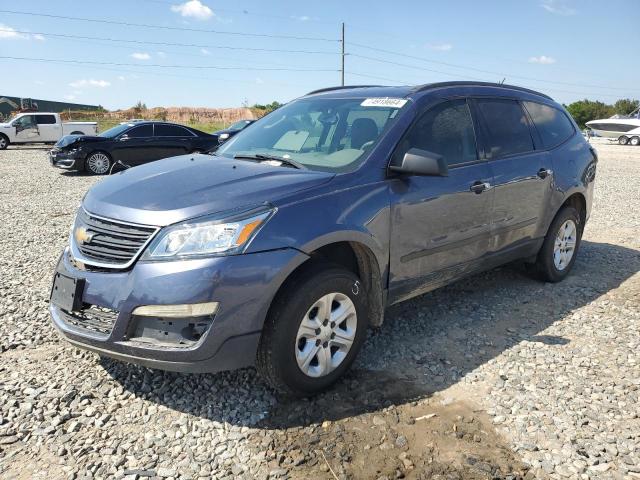
[{"label": "dark shadow on the gravel beneath and beside the blue SUV", "polygon": [[[539,282],[513,264],[403,302],[387,310],[383,326],[370,332],[335,387],[312,398],[274,396],[267,413],[247,389],[263,384],[253,369],[186,376],[101,362],[134,395],[201,418],[266,429],[307,426],[427,398],[522,341],[566,345],[568,339],[542,332],[638,271],[636,250],[584,241],[572,274],[561,283]],[[227,395],[244,403],[211,407]]]}]

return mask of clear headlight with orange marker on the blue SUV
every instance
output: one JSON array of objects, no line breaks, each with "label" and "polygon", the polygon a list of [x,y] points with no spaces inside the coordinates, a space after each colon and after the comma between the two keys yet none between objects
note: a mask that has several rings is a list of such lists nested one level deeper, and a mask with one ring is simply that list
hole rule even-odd
[{"label": "clear headlight with orange marker on the blue SUV", "polygon": [[143,256],[148,260],[241,252],[275,210],[262,210],[233,220],[181,223],[160,231]]}]

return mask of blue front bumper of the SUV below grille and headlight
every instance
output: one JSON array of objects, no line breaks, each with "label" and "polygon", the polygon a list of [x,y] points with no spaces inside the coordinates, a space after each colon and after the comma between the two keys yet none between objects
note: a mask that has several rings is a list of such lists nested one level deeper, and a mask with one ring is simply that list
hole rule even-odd
[{"label": "blue front bumper of the SUV below grille and headlight", "polygon": [[[281,249],[185,261],[137,262],[128,271],[113,272],[83,270],[66,249],[56,273],[83,279],[82,302],[109,309],[114,312],[114,320],[110,328],[98,332],[79,327],[78,322],[70,321],[69,312],[53,303],[49,310],[65,339],[100,355],[178,372],[232,370],[254,363],[273,297],[289,273],[307,258],[297,250]],[[136,307],[206,302],[218,302],[219,308],[194,343],[154,344],[136,337],[143,320],[132,314]],[[175,324],[185,321],[164,320]]]}]

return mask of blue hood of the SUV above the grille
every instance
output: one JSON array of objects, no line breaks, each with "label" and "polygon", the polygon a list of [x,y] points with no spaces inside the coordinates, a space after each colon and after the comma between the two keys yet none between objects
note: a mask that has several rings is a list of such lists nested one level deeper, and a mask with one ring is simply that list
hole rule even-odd
[{"label": "blue hood of the SUV above the grille", "polygon": [[211,155],[182,155],[107,177],[89,190],[83,206],[98,216],[166,226],[274,202],[334,176]]}]

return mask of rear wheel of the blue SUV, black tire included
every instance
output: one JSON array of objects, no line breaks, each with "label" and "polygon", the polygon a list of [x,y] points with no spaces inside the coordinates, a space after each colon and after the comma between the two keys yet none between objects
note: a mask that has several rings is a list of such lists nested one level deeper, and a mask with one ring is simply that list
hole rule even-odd
[{"label": "rear wheel of the blue SUV, black tire included", "polygon": [[[583,228],[575,208],[564,207],[558,212],[536,258],[535,271],[541,280],[555,283],[569,275],[578,255]],[[567,252],[571,245],[573,249]]]}]

